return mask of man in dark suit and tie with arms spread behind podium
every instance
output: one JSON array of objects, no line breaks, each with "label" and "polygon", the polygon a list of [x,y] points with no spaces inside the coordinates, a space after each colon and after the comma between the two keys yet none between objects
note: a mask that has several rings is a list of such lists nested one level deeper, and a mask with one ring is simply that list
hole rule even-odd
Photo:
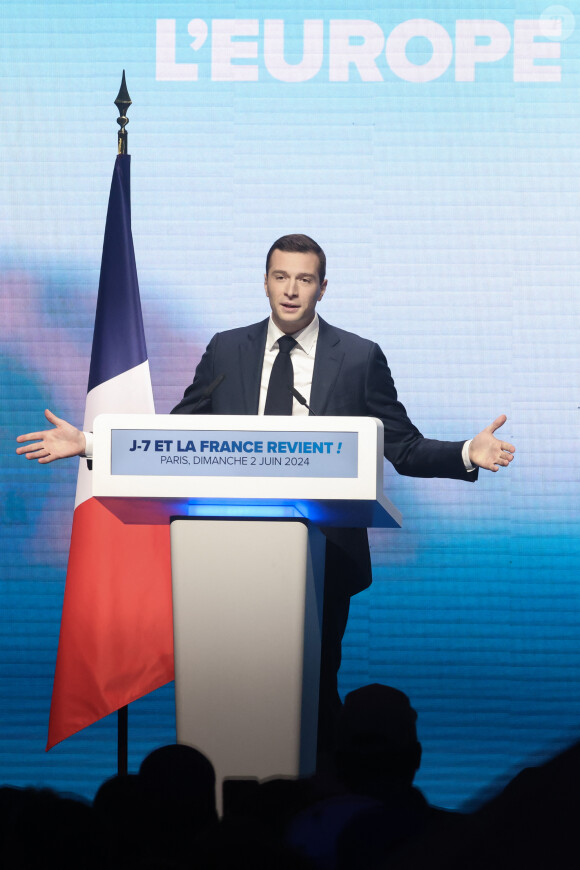
[{"label": "man in dark suit and tie with arms spread behind podium", "polygon": [[[326,257],[305,235],[278,239],[268,252],[264,288],[270,317],[261,323],[215,335],[176,414],[307,414],[288,383],[315,414],[371,416],[382,420],[385,456],[400,474],[476,480],[478,468],[508,466],[515,448],[494,436],[500,416],[471,441],[424,438],[409,420],[379,346],[337,329],[318,317],[316,306],[327,287]],[[294,341],[289,341],[290,336]],[[208,387],[224,375],[206,398]],[[268,390],[270,387],[270,391]],[[55,429],[21,435],[19,447],[41,463],[87,450],[87,435],[50,411]],[[336,674],[350,596],[371,582],[366,529],[324,529],[327,537],[322,636],[320,745],[332,744],[340,706]]]}]

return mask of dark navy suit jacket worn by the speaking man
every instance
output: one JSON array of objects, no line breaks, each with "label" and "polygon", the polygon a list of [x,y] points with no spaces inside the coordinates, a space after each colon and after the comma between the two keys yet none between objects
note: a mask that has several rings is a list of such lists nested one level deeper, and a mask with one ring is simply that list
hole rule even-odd
[{"label": "dark navy suit jacket worn by the speaking man", "polygon": [[[424,438],[411,423],[380,347],[320,320],[310,406],[317,415],[378,417],[385,429],[385,456],[399,474],[473,481],[463,441]],[[268,319],[214,335],[173,414],[189,414],[218,375],[225,380],[200,414],[257,414]],[[324,529],[344,556],[344,583],[352,595],[371,582],[366,529]],[[336,559],[334,561],[337,561]]]}]

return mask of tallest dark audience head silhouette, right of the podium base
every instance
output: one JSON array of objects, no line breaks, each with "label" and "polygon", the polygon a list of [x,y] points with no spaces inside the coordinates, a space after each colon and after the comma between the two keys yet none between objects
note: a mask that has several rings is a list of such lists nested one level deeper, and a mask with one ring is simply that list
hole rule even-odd
[{"label": "tallest dark audience head silhouette, right of the podium base", "polygon": [[421,765],[417,713],[404,692],[372,683],[349,692],[337,727],[336,764],[349,788],[381,779],[411,786]]}]

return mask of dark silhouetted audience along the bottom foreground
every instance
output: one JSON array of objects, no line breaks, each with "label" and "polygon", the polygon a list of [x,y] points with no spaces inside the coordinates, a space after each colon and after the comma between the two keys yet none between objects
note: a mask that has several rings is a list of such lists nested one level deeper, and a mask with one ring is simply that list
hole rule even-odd
[{"label": "dark silhouetted audience along the bottom foreground", "polygon": [[150,870],[503,870],[578,866],[580,744],[529,768],[470,815],[413,785],[417,714],[397,689],[347,695],[332,764],[309,779],[226,780],[210,761],[152,752],[93,804],[49,789],[0,788],[0,866]]}]

